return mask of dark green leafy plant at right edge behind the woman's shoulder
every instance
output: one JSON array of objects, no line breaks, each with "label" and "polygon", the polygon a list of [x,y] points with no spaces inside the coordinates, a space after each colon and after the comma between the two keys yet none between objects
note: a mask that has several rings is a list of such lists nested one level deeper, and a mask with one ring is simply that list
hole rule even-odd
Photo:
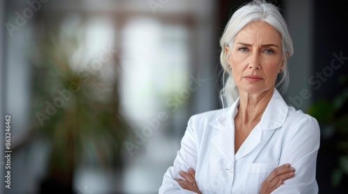
[{"label": "dark green leafy plant at right edge behind the woman's shoulder", "polygon": [[348,76],[341,81],[345,89],[333,100],[319,99],[308,109],[308,114],[317,118],[321,126],[319,155],[334,156],[333,188],[345,186],[344,180],[348,179]]}]

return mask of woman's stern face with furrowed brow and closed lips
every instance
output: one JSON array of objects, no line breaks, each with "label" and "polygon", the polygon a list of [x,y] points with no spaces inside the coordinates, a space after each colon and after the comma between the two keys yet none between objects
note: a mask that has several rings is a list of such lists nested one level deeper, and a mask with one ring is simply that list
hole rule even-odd
[{"label": "woman's stern face with furrowed brow and closed lips", "polygon": [[265,21],[251,22],[235,37],[228,64],[239,92],[260,94],[273,89],[283,70],[280,33]]}]

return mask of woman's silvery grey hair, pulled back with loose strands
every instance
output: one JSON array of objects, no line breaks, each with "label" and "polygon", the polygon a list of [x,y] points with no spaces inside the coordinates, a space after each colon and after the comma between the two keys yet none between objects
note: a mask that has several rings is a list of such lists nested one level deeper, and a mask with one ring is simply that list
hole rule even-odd
[{"label": "woman's silvery grey hair, pulled back with loose strands", "polygon": [[278,7],[274,6],[272,3],[267,3],[267,1],[264,0],[254,0],[250,3],[246,3],[235,11],[230,18],[230,21],[228,21],[220,39],[220,62],[223,67],[223,88],[220,91],[220,98],[223,107],[229,107],[232,105],[239,96],[237,86],[232,78],[230,68],[228,67],[227,59],[230,53],[226,53],[225,48],[226,46],[229,46],[231,51],[232,43],[235,41],[235,37],[239,31],[252,21],[266,21],[271,26],[274,26],[274,28],[276,28],[280,33],[282,39],[284,69],[282,73],[278,75],[276,88],[282,94],[287,90],[287,85],[289,84],[289,71],[287,69],[285,55],[290,57],[294,53],[292,38],[287,29],[287,24]]}]

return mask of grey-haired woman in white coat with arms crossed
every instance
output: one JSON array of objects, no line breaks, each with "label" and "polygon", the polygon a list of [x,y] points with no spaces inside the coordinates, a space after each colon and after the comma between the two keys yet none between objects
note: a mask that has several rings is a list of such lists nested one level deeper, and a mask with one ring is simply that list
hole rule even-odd
[{"label": "grey-haired woman in white coat with arms crossed", "polygon": [[278,8],[242,6],[220,44],[228,107],[191,116],[159,193],[318,193],[319,125],[278,92],[293,54]]}]

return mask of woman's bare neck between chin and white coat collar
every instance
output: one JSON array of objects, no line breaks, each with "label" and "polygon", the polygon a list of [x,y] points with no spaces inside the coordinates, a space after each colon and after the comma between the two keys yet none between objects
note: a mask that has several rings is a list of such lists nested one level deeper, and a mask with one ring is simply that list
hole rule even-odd
[{"label": "woman's bare neck between chin and white coat collar", "polygon": [[260,94],[248,94],[239,90],[239,107],[236,118],[243,124],[259,122],[273,95],[274,88]]}]

